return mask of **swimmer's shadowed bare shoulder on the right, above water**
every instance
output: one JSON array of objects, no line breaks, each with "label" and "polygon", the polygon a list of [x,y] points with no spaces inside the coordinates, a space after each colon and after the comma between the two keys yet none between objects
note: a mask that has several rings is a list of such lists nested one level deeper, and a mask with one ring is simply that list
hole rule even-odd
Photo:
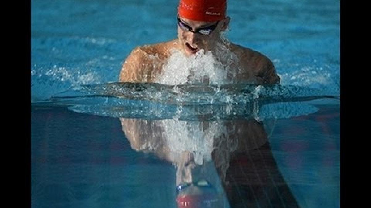
[{"label": "swimmer's shadowed bare shoulder on the right, above water", "polygon": [[246,73],[253,74],[259,84],[278,84],[280,78],[272,61],[264,54],[251,48],[230,44],[231,50],[241,61]]}]

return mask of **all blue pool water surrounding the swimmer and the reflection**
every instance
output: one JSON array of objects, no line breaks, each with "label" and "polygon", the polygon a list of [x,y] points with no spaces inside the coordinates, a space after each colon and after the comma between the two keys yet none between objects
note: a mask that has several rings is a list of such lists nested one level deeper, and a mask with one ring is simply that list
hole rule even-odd
[{"label": "all blue pool water surrounding the swimmer and the reflection", "polygon": [[[92,97],[83,91],[66,98],[81,85],[117,81],[134,47],[175,38],[177,4],[31,1],[32,207],[176,207],[174,166],[133,150],[118,118],[190,122],[195,115],[209,116],[207,122],[262,121],[273,169],[296,204],[340,207],[340,101],[311,97],[340,94],[339,1],[229,2],[226,37],[267,55],[281,77],[282,88],[253,91],[267,97],[257,105],[248,93],[228,92],[166,94],[173,103],[151,93],[145,101],[97,97],[96,88]],[[180,112],[177,99],[191,105]],[[261,200],[257,207],[265,207]],[[274,202],[267,207],[280,207]]]}]

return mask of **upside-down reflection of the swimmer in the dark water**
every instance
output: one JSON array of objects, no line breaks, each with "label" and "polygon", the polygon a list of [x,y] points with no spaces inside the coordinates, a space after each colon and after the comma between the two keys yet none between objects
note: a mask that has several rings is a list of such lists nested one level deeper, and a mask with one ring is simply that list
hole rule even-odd
[{"label": "upside-down reflection of the swimmer in the dark water", "polygon": [[274,121],[119,119],[132,149],[174,165],[178,207],[298,207],[269,146]]}]

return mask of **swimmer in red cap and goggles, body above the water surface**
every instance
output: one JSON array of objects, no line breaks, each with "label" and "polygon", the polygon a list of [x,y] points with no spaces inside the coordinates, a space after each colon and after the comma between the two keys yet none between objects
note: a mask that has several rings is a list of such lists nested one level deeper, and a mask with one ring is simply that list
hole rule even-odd
[{"label": "swimmer in red cap and goggles, body above the water surface", "polygon": [[[138,46],[131,51],[119,74],[121,82],[154,83],[167,68],[170,56],[180,51],[186,57],[211,53],[223,66],[229,66],[227,79],[233,83],[277,84],[280,81],[272,61],[250,48],[227,41],[230,17],[227,0],[180,0],[177,21],[178,37],[153,45]],[[229,63],[223,53],[230,51],[237,61]],[[181,72],[179,72],[181,73]],[[205,78],[207,82],[207,77]]]}]

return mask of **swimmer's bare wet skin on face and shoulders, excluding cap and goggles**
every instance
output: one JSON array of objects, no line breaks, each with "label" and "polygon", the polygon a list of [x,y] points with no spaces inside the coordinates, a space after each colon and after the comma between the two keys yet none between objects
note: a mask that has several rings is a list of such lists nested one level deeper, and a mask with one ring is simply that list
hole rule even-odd
[{"label": "swimmer's bare wet skin on face and shoulders, excluding cap and goggles", "polygon": [[[176,18],[174,19],[177,21]],[[194,21],[182,17],[180,17],[180,20],[190,27],[192,31],[217,23]],[[217,46],[219,45],[225,47],[237,57],[237,61],[233,63],[227,63],[229,60],[220,59],[221,64],[224,66],[230,64],[230,68],[232,68],[232,71],[228,72],[227,79],[233,80],[236,83],[279,83],[280,78],[276,73],[272,61],[268,57],[250,48],[221,39],[221,33],[227,29],[229,21],[229,17],[219,21],[216,28],[209,35],[185,31],[178,25],[178,37],[176,39],[134,48],[122,65],[119,81],[154,82],[162,73],[163,67],[167,64],[167,60],[173,50],[181,51],[185,56],[192,56],[197,51],[203,49],[205,52],[211,51],[219,59],[223,55],[218,53]]]}]

